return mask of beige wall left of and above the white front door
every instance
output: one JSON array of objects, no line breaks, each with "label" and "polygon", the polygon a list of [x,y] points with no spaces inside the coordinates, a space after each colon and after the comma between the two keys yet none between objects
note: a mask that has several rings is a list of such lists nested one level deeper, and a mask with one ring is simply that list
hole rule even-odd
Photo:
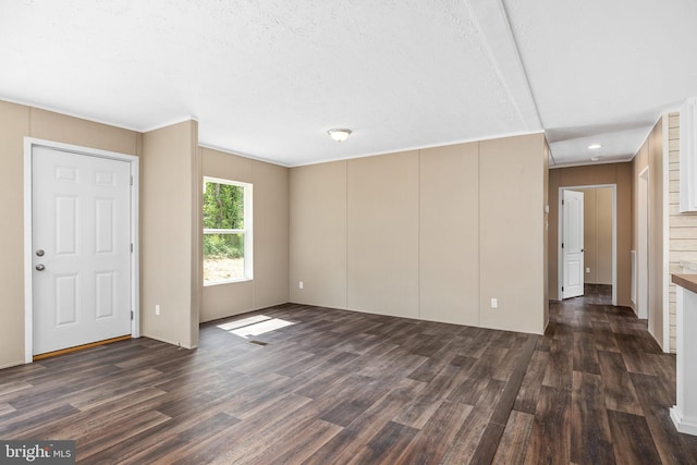
[{"label": "beige wall left of and above the white front door", "polygon": [[24,363],[24,137],[140,155],[140,134],[0,101],[0,368]]}]

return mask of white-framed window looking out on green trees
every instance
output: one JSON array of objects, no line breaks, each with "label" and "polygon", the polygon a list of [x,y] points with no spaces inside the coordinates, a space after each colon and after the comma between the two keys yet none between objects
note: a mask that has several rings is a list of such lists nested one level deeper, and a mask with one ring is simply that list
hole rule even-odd
[{"label": "white-framed window looking out on green trees", "polygon": [[204,178],[204,285],[250,280],[252,184]]}]

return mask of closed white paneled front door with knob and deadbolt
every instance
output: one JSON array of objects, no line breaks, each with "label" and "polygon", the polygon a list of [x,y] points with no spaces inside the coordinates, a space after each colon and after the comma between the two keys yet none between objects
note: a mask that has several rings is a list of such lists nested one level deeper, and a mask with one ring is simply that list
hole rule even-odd
[{"label": "closed white paneled front door with knob and deadbolt", "polygon": [[131,334],[131,166],[32,150],[34,355]]}]

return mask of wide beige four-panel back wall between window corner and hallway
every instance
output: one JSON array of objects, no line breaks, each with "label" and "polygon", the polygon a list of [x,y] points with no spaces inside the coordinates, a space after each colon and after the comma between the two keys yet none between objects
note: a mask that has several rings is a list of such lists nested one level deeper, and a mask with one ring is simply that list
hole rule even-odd
[{"label": "wide beige four-panel back wall between window corner and hallway", "polygon": [[541,333],[546,155],[537,134],[291,169],[291,299]]}]

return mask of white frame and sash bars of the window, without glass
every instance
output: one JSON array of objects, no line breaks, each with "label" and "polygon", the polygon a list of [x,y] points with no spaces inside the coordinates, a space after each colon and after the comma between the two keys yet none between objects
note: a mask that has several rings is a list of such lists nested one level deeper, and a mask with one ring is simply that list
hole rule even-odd
[{"label": "white frame and sash bars of the window, without glass", "polygon": [[[244,183],[241,181],[225,180],[222,178],[204,176],[203,191],[201,191],[203,193],[206,192],[207,183],[228,184],[228,185],[240,186],[243,188],[244,228],[243,229],[204,228],[201,240],[205,237],[206,234],[242,234],[243,241],[244,241],[244,277],[220,280],[220,281],[206,281],[206,279],[203,278],[204,286],[252,281],[254,279],[254,234],[253,234],[254,211],[252,207],[254,186],[252,185],[252,183]],[[203,205],[203,201],[201,201],[201,205]],[[203,221],[203,217],[201,217],[201,221]],[[203,247],[204,245],[201,241],[201,261],[205,261],[206,257],[204,255]]]}]

